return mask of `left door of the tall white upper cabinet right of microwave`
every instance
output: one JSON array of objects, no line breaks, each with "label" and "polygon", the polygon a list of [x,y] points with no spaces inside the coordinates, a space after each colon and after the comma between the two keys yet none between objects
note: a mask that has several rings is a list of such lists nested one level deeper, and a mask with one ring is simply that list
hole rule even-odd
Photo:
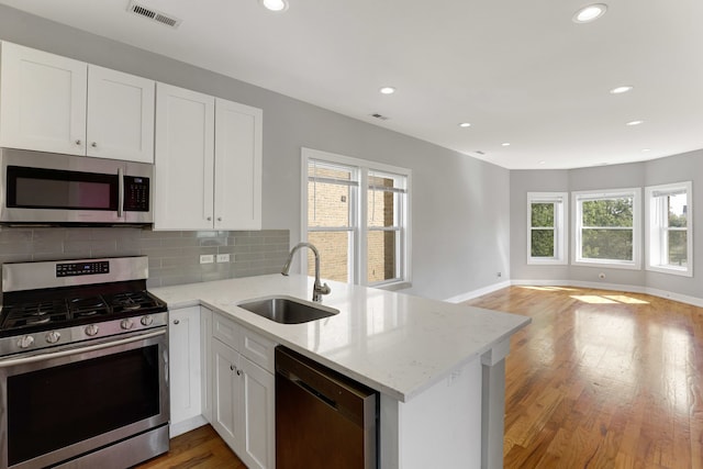
[{"label": "left door of the tall white upper cabinet right of microwave", "polygon": [[212,230],[214,98],[157,83],[155,230]]}]

